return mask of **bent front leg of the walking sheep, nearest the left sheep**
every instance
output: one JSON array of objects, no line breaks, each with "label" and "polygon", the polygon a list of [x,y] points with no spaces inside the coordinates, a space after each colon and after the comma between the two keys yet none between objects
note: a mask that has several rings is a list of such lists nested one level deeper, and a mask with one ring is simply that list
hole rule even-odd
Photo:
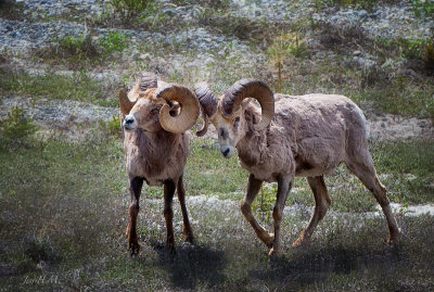
[{"label": "bent front leg of the walking sheep, nearest the left sheep", "polygon": [[256,232],[256,236],[268,246],[272,246],[272,242],[275,240],[272,234],[269,234],[264,227],[261,227],[255,217],[252,214],[252,203],[255,200],[256,195],[258,194],[260,187],[263,186],[263,181],[256,179],[254,175],[248,176],[248,183],[247,183],[247,191],[244,196],[243,203],[241,203],[241,212],[243,213],[244,217],[251,224],[253,229]]}]

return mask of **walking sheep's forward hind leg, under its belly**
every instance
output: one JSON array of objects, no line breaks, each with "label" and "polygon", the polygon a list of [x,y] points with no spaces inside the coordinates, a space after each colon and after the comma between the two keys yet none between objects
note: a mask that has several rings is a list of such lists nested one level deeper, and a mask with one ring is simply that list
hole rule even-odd
[{"label": "walking sheep's forward hind leg, under its belly", "polygon": [[324,217],[327,210],[331,204],[323,176],[308,177],[307,181],[309,182],[310,189],[314,192],[315,208],[309,225],[302,232],[302,234],[299,234],[298,239],[292,244],[292,246],[294,247],[309,243],[310,237],[314,233],[315,228],[317,227],[318,223]]}]

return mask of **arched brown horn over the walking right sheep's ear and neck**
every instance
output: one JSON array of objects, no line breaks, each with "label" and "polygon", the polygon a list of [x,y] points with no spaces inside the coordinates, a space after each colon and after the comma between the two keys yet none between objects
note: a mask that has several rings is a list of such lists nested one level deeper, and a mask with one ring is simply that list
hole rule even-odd
[{"label": "arched brown horn over the walking right sheep's ear and neck", "polygon": [[246,98],[256,99],[261,109],[261,119],[254,125],[255,130],[268,127],[275,116],[275,96],[267,84],[256,79],[241,79],[234,82],[225,93],[221,112],[229,117]]}]

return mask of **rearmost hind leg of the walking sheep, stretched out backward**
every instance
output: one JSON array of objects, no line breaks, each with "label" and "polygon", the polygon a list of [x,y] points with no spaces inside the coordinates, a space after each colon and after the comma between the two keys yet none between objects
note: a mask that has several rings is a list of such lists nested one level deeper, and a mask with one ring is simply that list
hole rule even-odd
[{"label": "rearmost hind leg of the walking sheep, stretched out backward", "polygon": [[383,210],[383,214],[386,217],[387,225],[388,225],[388,243],[390,244],[397,244],[399,242],[399,227],[396,223],[396,219],[392,213],[391,204],[387,199],[386,189],[380,182],[375,168],[372,163],[372,158],[368,153],[369,158],[366,158],[363,162],[357,162],[356,160],[350,161],[347,163],[348,168],[352,170],[354,175],[356,175],[361,182],[368,188],[369,191],[373,193],[376,201],[379,202],[381,208]]}]

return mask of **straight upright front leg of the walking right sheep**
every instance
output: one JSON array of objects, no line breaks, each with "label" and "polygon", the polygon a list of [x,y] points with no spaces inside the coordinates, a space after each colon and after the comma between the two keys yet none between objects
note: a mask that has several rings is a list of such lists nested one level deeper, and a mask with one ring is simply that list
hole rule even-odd
[{"label": "straight upright front leg of the walking right sheep", "polygon": [[282,255],[282,244],[280,240],[280,226],[282,221],[283,208],[286,202],[288,194],[292,188],[292,182],[294,178],[283,177],[279,175],[278,177],[278,193],[276,199],[275,210],[272,211],[272,218],[275,219],[275,242],[269,252],[269,256],[279,257]]}]

